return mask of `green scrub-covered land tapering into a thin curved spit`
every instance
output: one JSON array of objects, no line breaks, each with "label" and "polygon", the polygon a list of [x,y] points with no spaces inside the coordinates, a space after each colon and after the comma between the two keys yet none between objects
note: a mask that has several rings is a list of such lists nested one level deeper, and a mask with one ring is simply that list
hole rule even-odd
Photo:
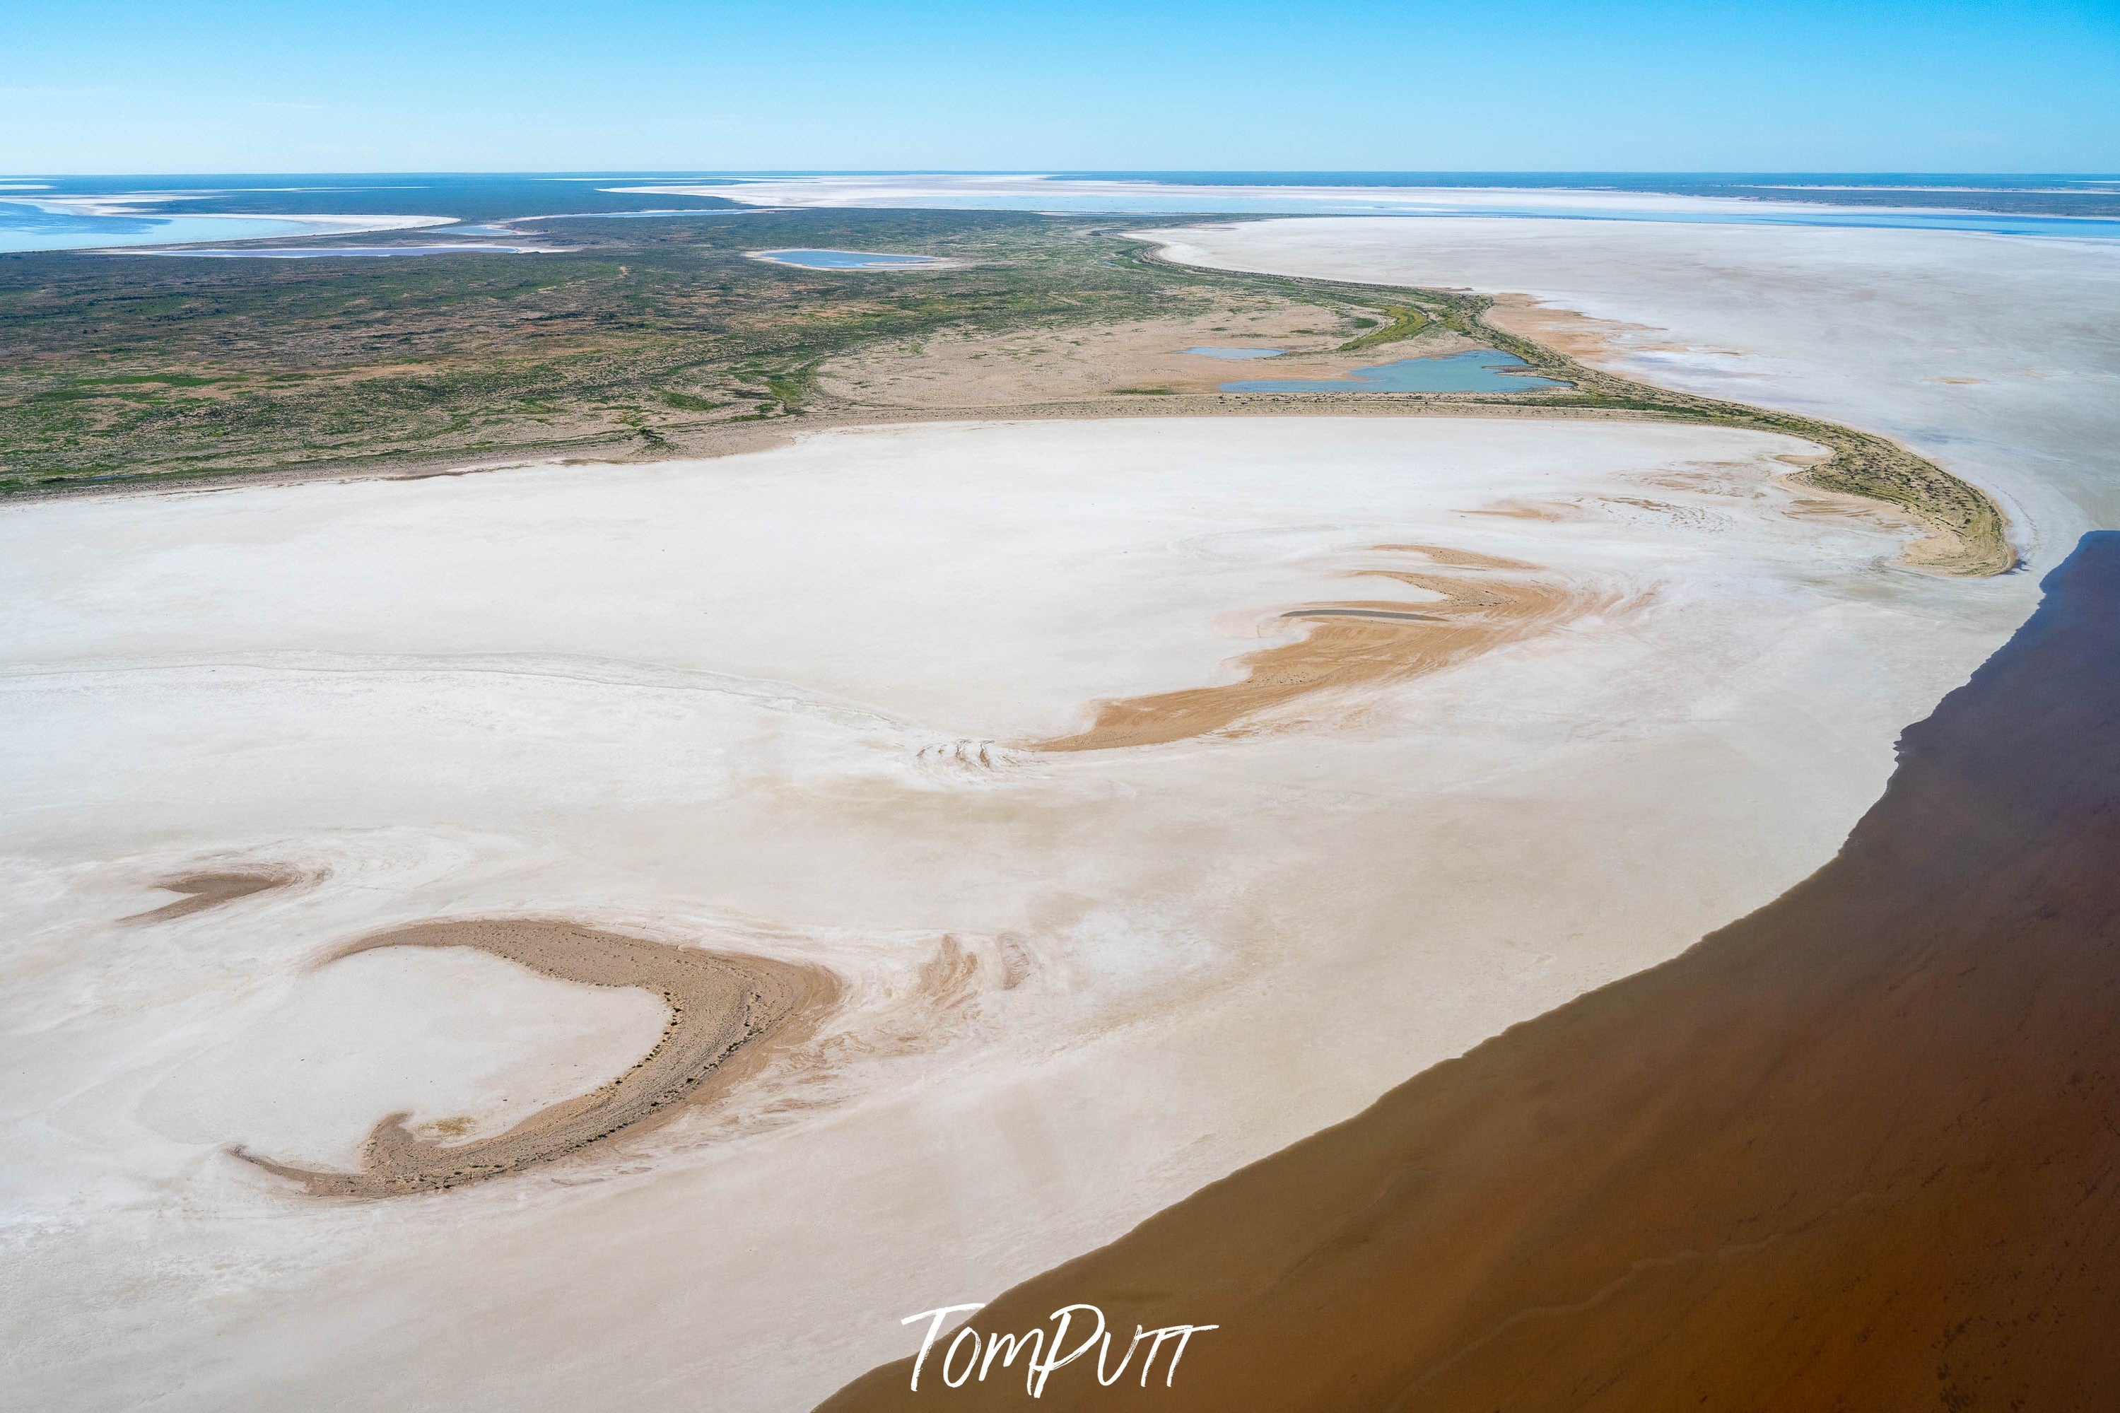
[{"label": "green scrub-covered land tapering into a thin curved spit", "polygon": [[[505,191],[494,184],[488,195],[498,201]],[[918,356],[935,335],[1064,337],[1215,316],[1268,297],[1359,330],[1342,354],[1454,330],[1567,383],[1370,398],[1391,396],[1408,411],[1492,405],[1800,436],[1832,451],[1802,479],[1908,511],[1955,540],[1950,568],[2014,564],[1984,494],[1883,436],[1588,369],[1490,326],[1490,301],[1473,294],[1168,265],[1132,235],[1155,225],[818,210],[727,222],[545,220],[543,233],[579,250],[534,258],[0,256],[0,496],[110,477],[471,451],[666,451],[674,436],[714,424],[827,409],[818,369],[856,350]],[[774,246],[952,263],[880,278],[744,258]]]}]

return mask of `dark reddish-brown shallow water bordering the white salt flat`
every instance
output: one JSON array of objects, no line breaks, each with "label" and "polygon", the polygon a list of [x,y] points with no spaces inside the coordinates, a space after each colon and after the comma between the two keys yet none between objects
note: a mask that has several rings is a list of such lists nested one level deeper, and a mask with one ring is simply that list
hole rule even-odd
[{"label": "dark reddish-brown shallow water bordering the white salt flat", "polygon": [[[2114,680],[2120,534],[2095,534],[1817,875],[973,1322],[1090,1301],[1113,1360],[1136,1322],[1221,1326],[1170,1388],[1100,1390],[1092,1352],[1062,1409],[2112,1407]],[[1022,1398],[907,1375],[825,1407]]]}]

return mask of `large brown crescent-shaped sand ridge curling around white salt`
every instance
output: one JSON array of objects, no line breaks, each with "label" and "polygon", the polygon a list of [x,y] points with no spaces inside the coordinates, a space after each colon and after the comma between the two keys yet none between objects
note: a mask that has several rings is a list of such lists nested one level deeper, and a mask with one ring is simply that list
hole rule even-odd
[{"label": "large brown crescent-shaped sand ridge curling around white salt", "polygon": [[[619,1078],[543,1108],[494,1138],[439,1144],[413,1133],[405,1123],[409,1114],[390,1114],[369,1133],[356,1174],[235,1150],[318,1197],[399,1197],[483,1182],[668,1119],[683,1104],[723,1093],[755,1070],[772,1044],[810,1034],[840,991],[831,972],[816,966],[676,947],[566,922],[428,922],[350,943],[320,966],[379,947],[475,947],[560,981],[644,987],[664,998],[670,1021],[655,1049]],[[435,1127],[449,1133],[449,1121]]]}]

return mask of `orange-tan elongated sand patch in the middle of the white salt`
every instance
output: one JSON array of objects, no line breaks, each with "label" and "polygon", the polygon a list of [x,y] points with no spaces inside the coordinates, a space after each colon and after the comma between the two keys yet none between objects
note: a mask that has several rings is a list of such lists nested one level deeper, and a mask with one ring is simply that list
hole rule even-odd
[{"label": "orange-tan elongated sand patch in the middle of the white salt", "polygon": [[1310,631],[1240,657],[1240,682],[1102,701],[1085,731],[1037,741],[1032,750],[1115,750],[1183,741],[1240,725],[1266,729],[1268,716],[1287,714],[1306,699],[1367,695],[1613,604],[1611,595],[1565,585],[1516,559],[1435,544],[1374,549],[1420,555],[1459,572],[1357,570],[1355,576],[1391,578],[1439,597],[1423,604],[1348,600],[1283,610],[1278,616],[1306,621]]}]

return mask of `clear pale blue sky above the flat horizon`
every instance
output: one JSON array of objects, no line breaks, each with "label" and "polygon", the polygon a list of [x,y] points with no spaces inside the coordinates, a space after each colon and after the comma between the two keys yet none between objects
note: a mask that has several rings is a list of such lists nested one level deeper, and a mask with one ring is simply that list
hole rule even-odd
[{"label": "clear pale blue sky above the flat horizon", "polygon": [[2116,172],[2095,4],[8,0],[0,169]]}]

